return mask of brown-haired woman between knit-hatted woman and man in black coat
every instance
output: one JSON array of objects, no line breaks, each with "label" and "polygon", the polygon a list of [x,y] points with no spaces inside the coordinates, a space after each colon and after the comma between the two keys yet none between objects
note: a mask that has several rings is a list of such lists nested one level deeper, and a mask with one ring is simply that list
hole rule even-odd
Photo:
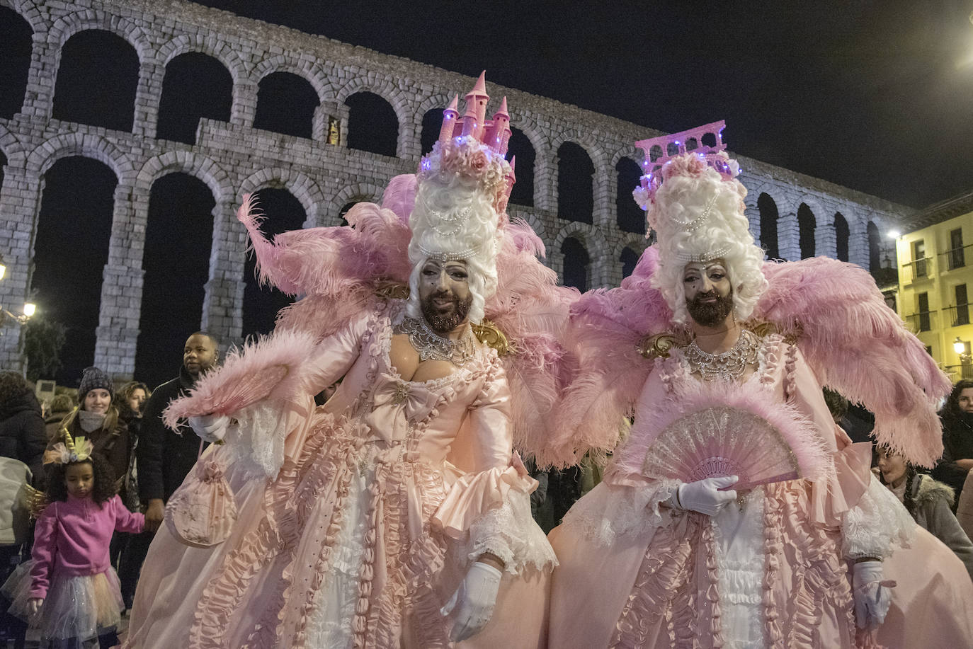
[{"label": "brown-haired woman between knit-hatted woman and man in black coat", "polygon": [[[135,453],[138,452],[139,433],[142,425],[142,413],[145,409],[145,401],[152,392],[149,386],[137,380],[129,381],[115,395],[115,405],[119,409],[119,416],[128,426],[128,435],[131,438],[132,453],[128,460],[128,471],[125,476],[125,506],[129,512],[140,512],[141,501],[138,497],[138,468],[135,461]],[[131,607],[131,600],[135,596],[135,587],[138,585],[138,575],[142,569],[142,562],[149,551],[149,544],[152,543],[153,533],[150,531],[140,531],[135,534],[119,532],[116,537],[122,540],[121,543],[113,542],[112,563],[118,561],[119,580],[122,583],[122,598],[126,608]],[[119,553],[119,554],[116,554]]]}]

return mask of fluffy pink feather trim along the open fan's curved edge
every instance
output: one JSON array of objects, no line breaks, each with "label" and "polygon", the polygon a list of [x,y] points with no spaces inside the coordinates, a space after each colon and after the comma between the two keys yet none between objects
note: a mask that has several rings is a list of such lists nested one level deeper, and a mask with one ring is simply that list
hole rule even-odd
[{"label": "fluffy pink feather trim along the open fan's curved edge", "polygon": [[801,478],[811,482],[821,480],[833,468],[828,445],[811,420],[793,406],[781,404],[770,388],[752,380],[739,384],[689,380],[684,381],[680,389],[670,392],[651,415],[635,420],[630,441],[619,452],[612,473],[640,475],[646,453],[669,424],[713,406],[729,406],[757,415],[773,425],[794,452]]}]

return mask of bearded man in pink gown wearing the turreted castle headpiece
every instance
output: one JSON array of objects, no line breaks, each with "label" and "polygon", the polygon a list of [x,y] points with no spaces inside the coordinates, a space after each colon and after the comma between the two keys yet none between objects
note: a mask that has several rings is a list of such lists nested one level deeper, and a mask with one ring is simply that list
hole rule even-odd
[{"label": "bearded man in pink gown wearing the turreted castle headpiece", "polygon": [[[470,123],[444,126],[385,207],[349,211],[353,229],[270,243],[241,210],[264,276],[307,297],[167,414],[225,442],[198,462],[196,488],[225,479],[234,502],[201,532],[188,505],[167,511],[126,646],[519,646],[516,621],[488,625],[494,605],[555,557],[512,454],[505,367],[520,361],[485,315],[504,322],[498,304],[514,300],[566,318],[567,294],[533,255],[536,235],[506,219],[506,100],[484,120],[482,85]],[[510,343],[543,358],[540,332],[517,326]],[[225,538],[209,538],[232,510]],[[207,547],[186,545],[199,537]]]}]

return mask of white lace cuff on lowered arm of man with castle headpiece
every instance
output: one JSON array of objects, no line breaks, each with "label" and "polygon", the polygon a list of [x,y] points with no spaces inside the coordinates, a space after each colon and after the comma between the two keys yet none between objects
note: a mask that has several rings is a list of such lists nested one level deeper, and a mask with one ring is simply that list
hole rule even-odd
[{"label": "white lace cuff on lowered arm of man with castle headpiece", "polygon": [[466,563],[485,553],[493,555],[504,562],[510,574],[550,570],[558,565],[554,548],[530,516],[529,494],[514,489],[500,507],[470,525],[468,541],[460,552]]}]

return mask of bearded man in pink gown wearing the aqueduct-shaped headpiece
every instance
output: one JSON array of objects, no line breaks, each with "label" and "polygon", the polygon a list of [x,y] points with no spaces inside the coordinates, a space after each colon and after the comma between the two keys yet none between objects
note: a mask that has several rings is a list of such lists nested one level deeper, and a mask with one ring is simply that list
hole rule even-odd
[{"label": "bearded man in pink gown wearing the aqueduct-shaped headpiece", "polygon": [[[864,402],[883,443],[931,465],[948,381],[863,270],[765,265],[722,126],[638,143],[658,243],[572,307],[561,462],[614,457],[551,533],[549,646],[971,646],[962,565],[888,497],[821,393]],[[707,128],[718,146],[699,145]]]}]

